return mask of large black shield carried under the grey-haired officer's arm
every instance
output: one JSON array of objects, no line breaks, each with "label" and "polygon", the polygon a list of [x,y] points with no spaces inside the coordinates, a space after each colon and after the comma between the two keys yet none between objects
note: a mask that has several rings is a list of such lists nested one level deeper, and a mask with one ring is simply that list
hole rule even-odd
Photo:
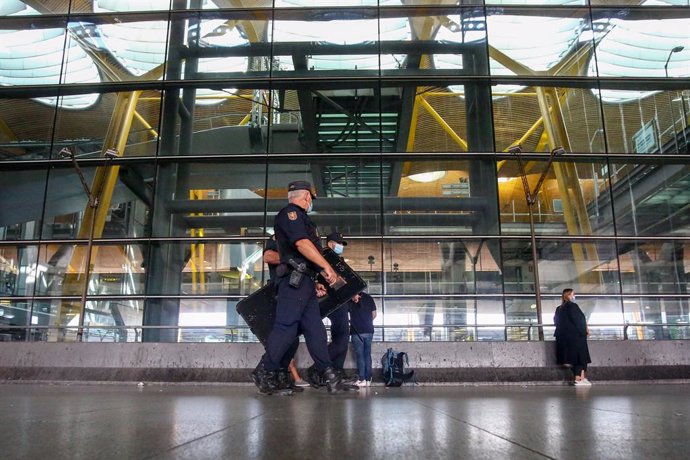
[{"label": "large black shield carried under the grey-haired officer's arm", "polygon": [[[333,286],[326,288],[327,295],[319,299],[321,317],[325,318],[344,305],[355,294],[361,292],[367,283],[331,249],[326,248],[323,251],[323,256],[338,275],[338,281]],[[237,313],[264,346],[268,341],[276,318],[276,294],[275,285],[273,282],[269,282],[255,293],[239,301],[236,307]]]}]

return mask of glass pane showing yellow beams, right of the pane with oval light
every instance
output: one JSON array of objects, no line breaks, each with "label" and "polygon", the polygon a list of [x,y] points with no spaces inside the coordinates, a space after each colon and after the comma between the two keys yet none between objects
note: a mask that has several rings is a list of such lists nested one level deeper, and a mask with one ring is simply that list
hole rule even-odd
[{"label": "glass pane showing yellow beams, right of the pane with oval light", "polygon": [[[522,163],[528,193],[535,200],[532,219],[537,235],[613,234],[605,163],[557,160],[550,167],[547,161],[523,160]],[[529,207],[520,163],[508,160],[498,165],[501,232],[529,234]],[[539,184],[542,176],[544,180]]]}]

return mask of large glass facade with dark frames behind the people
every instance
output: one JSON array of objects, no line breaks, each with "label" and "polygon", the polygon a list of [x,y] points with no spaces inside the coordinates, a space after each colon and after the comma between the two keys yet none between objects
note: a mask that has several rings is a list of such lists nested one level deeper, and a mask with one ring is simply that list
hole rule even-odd
[{"label": "large glass facade with dark frames behind the people", "polygon": [[375,340],[551,340],[564,288],[594,338],[690,338],[687,0],[9,0],[0,35],[2,340],[255,340],[299,179]]}]

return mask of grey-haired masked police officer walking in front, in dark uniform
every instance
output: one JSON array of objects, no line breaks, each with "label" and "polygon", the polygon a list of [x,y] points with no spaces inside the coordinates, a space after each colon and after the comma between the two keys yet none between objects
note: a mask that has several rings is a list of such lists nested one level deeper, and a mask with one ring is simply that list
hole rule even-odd
[{"label": "grey-haired masked police officer walking in front, in dark uniform", "polygon": [[307,215],[315,198],[309,182],[291,182],[288,185],[289,204],[275,217],[281,262],[275,279],[278,305],[263,358],[263,372],[260,372],[259,391],[262,393],[284,390],[278,376],[298,330],[304,334],[309,354],[328,391],[342,389],[341,378],[328,355],[326,329],[316,297],[316,275],[320,273],[328,284],[335,283],[337,275],[321,255],[316,226]]}]

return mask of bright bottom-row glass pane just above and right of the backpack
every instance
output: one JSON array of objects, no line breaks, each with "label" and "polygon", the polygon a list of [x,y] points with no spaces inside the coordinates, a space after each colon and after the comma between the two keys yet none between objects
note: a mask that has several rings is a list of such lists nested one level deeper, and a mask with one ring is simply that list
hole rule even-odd
[{"label": "bright bottom-row glass pane just above and right of the backpack", "polygon": [[505,340],[504,322],[500,298],[384,299],[389,342]]}]

